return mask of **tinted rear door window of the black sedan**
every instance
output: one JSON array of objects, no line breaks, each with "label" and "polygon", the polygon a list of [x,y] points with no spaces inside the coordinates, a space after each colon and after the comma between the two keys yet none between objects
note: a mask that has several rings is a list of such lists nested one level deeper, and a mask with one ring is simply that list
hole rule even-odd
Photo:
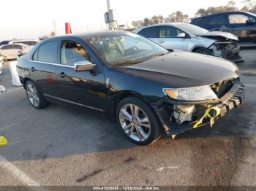
[{"label": "tinted rear door window of the black sedan", "polygon": [[42,44],[38,50],[38,61],[57,63],[57,47],[56,41]]}]

